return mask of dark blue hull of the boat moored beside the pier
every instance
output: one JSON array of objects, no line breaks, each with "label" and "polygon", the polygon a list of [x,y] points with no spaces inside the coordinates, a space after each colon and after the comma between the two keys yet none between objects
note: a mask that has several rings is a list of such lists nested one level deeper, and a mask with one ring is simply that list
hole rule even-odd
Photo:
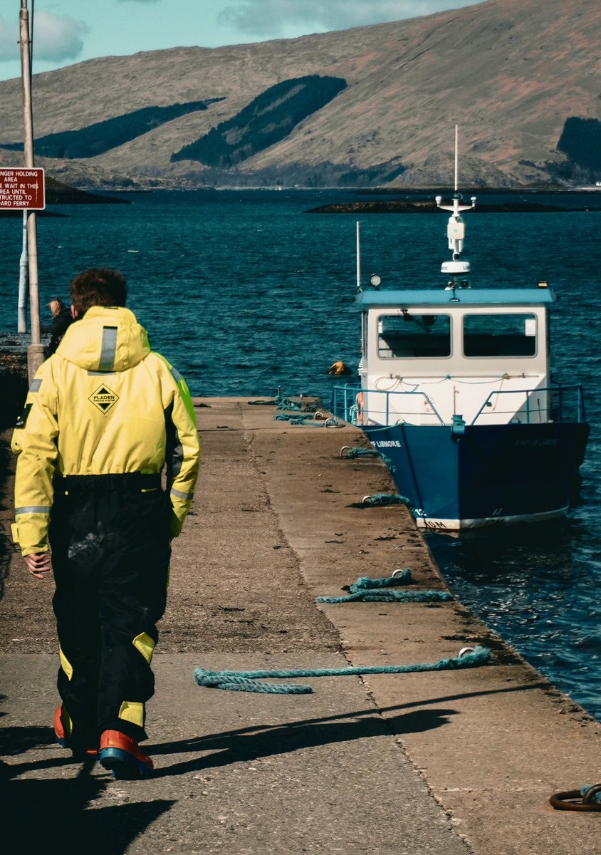
[{"label": "dark blue hull of the boat moored beside the pier", "polygon": [[418,525],[451,530],[563,515],[589,432],[586,422],[362,429]]}]

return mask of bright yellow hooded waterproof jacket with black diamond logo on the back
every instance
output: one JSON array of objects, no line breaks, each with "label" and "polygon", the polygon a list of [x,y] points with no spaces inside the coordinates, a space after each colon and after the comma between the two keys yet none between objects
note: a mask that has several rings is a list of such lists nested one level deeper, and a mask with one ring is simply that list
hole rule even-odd
[{"label": "bright yellow hooded waterproof jacket with black diamond logo on the back", "polygon": [[180,534],[196,485],[200,448],[186,381],[135,315],[93,306],[38,369],[13,434],[15,540],[22,555],[48,550],[52,478],[160,473],[167,464]]}]

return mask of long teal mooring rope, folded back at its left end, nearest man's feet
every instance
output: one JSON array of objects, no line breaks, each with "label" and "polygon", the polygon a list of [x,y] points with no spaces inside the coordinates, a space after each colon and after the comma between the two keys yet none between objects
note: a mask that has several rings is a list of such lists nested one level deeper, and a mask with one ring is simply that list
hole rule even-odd
[{"label": "long teal mooring rope, folded back at its left end, nearest man's feet", "polygon": [[310,694],[310,686],[290,686],[280,683],[256,682],[265,678],[286,679],[292,677],[346,677],[368,674],[413,674],[417,671],[444,671],[462,668],[478,668],[491,658],[487,647],[474,647],[474,651],[451,659],[421,665],[371,665],[364,668],[317,668],[292,669],[288,671],[208,671],[194,669],[194,680],[198,686],[228,689],[231,692],[256,692],[269,694]]}]

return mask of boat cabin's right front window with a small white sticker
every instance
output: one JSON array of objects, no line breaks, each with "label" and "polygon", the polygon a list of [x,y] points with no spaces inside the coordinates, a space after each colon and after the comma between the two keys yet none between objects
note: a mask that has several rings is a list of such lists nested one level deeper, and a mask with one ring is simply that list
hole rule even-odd
[{"label": "boat cabin's right front window with a small white sticker", "polygon": [[466,357],[535,356],[535,315],[465,315],[463,354]]}]

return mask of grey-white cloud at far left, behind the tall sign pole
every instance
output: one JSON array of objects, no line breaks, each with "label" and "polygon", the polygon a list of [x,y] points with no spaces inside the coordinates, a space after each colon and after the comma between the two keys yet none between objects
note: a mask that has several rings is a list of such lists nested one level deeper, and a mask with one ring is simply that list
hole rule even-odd
[{"label": "grey-white cloud at far left, behind the tall sign pole", "polygon": [[[12,62],[20,56],[19,18],[6,21],[0,18],[0,62]],[[75,21],[49,12],[36,12],[33,21],[33,59],[46,62],[62,62],[77,59],[84,49],[83,36],[88,27],[83,21]]]}]

